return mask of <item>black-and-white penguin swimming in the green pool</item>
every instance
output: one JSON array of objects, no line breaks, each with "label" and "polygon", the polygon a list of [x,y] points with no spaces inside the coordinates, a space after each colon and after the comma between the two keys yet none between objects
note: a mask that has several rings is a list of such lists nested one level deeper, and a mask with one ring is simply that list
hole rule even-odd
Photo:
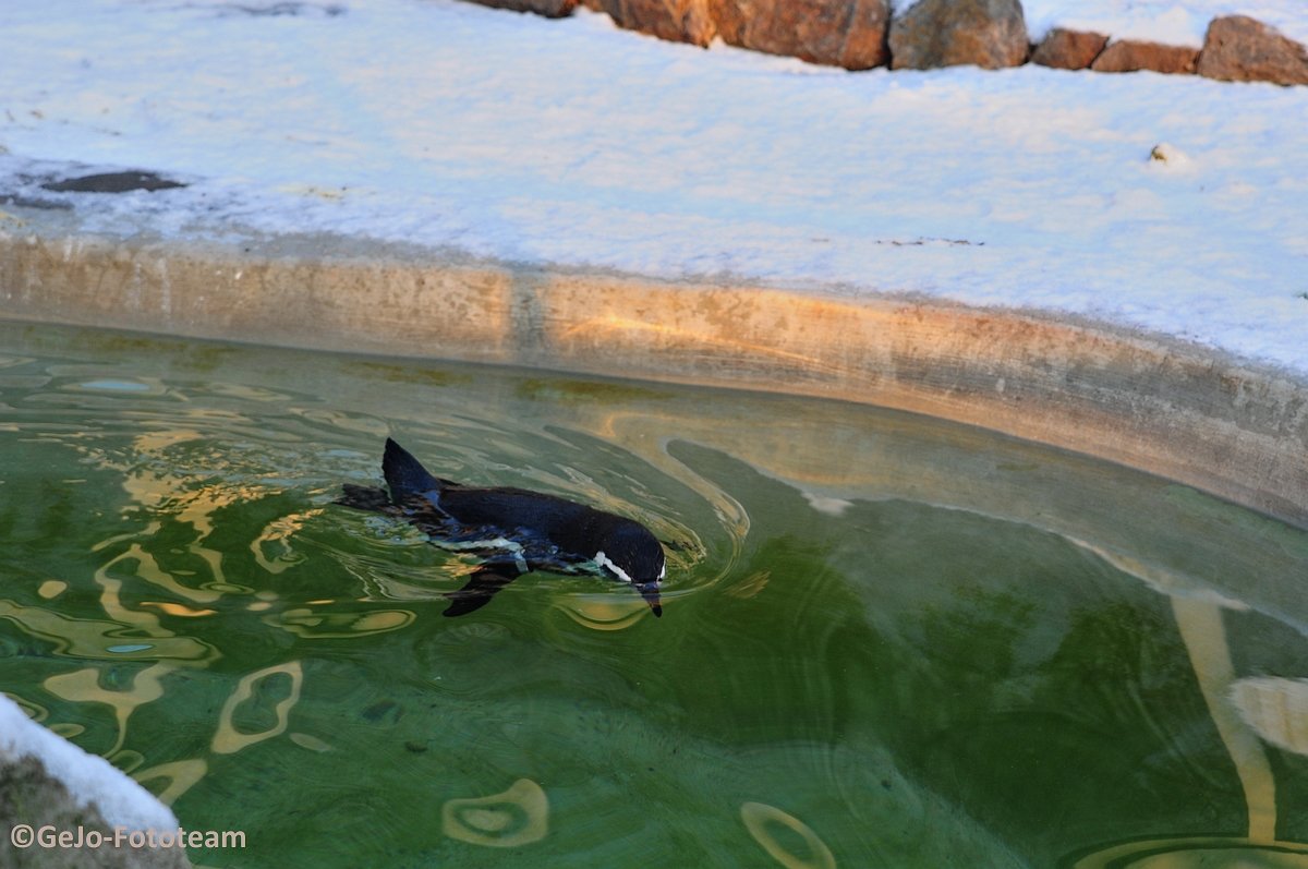
[{"label": "black-and-white penguin swimming in the green pool", "polygon": [[480,610],[530,571],[620,580],[640,592],[655,616],[663,615],[663,547],[640,522],[543,492],[475,488],[433,476],[388,437],[382,476],[388,493],[345,483],[335,503],[408,520],[436,546],[481,559],[467,585],[447,595],[447,616]]}]

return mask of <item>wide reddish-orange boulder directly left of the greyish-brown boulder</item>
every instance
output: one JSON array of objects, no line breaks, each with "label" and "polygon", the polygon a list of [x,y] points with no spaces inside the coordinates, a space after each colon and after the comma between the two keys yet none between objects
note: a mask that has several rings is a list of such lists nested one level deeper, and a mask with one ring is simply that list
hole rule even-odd
[{"label": "wide reddish-orange boulder directly left of the greyish-brown boulder", "polygon": [[846,69],[889,62],[889,0],[710,0],[732,46]]}]

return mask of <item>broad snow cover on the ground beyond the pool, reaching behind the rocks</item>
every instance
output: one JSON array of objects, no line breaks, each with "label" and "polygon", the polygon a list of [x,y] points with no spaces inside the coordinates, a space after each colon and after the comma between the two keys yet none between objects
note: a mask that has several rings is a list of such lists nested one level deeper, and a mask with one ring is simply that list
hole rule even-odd
[{"label": "broad snow cover on the ground beyond the pool, reaching behind the rocks", "polygon": [[[1028,10],[1192,43],[1247,10],[1308,38],[1301,0]],[[1308,88],[849,73],[453,0],[46,0],[0,5],[0,203],[76,202],[94,232],[918,294],[1308,373]],[[191,186],[38,187],[109,169]]]}]

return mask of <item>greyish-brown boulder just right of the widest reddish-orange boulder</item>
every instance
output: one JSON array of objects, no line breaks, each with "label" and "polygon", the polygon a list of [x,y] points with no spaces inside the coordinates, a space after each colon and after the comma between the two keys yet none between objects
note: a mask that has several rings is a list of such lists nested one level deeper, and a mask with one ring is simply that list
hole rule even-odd
[{"label": "greyish-brown boulder just right of the widest reddish-orange boulder", "polygon": [[1029,50],[1018,0],[920,0],[891,21],[889,46],[895,69],[1016,67]]}]

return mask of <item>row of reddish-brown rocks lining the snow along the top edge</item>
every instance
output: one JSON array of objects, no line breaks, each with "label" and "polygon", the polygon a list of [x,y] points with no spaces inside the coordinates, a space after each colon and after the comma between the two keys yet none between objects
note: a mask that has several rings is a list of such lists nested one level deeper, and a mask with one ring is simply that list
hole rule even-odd
[{"label": "row of reddish-brown rocks lining the snow along the top edge", "polygon": [[[473,0],[488,7],[572,14],[578,0]],[[619,26],[661,39],[740,48],[846,69],[994,69],[1037,63],[1062,69],[1150,69],[1223,81],[1308,84],[1308,48],[1247,16],[1209,24],[1202,48],[1053,29],[1031,44],[1019,0],[579,0]]]}]

